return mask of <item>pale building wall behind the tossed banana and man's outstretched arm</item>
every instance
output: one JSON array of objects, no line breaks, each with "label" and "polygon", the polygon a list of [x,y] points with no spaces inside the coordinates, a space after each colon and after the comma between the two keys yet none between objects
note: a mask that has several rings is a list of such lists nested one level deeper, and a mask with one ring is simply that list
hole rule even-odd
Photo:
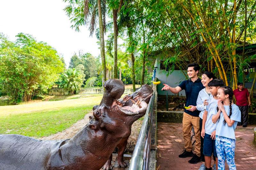
[{"label": "pale building wall behind the tossed banana and man's outstretched arm", "polygon": [[[155,67],[156,68],[156,78],[158,81],[161,81],[161,84],[157,85],[157,93],[159,95],[166,95],[166,91],[162,91],[161,89],[164,87],[162,83],[166,83],[171,87],[177,87],[181,81],[186,80],[185,75],[181,70],[174,70],[171,75],[166,76],[164,74],[164,70],[160,69],[160,60],[161,57],[157,57]],[[168,91],[168,95],[174,95],[172,92]],[[179,95],[186,96],[185,90],[179,92]]]}]

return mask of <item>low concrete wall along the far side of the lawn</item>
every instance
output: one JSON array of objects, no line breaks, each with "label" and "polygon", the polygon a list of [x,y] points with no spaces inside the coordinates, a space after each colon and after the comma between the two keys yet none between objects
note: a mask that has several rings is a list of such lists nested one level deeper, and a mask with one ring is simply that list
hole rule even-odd
[{"label": "low concrete wall along the far side of the lawn", "polygon": [[[137,88],[137,89],[139,89],[139,88]],[[131,93],[133,93],[132,89],[124,90],[124,94],[131,94]],[[78,94],[102,94],[102,88],[81,89]],[[68,95],[68,92],[67,91],[65,92],[63,88],[52,88],[52,89],[48,90],[48,95],[62,96],[62,95]]]}]

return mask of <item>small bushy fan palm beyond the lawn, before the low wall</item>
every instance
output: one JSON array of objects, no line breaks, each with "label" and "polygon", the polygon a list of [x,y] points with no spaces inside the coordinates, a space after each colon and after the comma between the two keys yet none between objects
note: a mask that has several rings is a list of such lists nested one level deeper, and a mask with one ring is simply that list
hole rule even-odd
[{"label": "small bushy fan palm beyond the lawn, before the low wall", "polygon": [[74,95],[80,90],[80,87],[83,83],[82,75],[76,68],[69,68],[65,76],[64,89],[68,90],[69,94]]}]

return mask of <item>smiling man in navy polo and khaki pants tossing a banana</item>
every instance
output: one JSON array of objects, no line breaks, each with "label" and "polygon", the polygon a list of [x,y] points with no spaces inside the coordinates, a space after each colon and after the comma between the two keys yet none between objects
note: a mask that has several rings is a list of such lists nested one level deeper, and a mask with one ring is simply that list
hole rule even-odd
[{"label": "smiling man in navy polo and khaki pants tossing a banana", "polygon": [[[185,142],[185,150],[182,154],[179,155],[180,158],[186,158],[189,156],[193,156],[188,162],[191,164],[196,164],[201,161],[201,153],[200,153],[200,131],[199,131],[199,113],[200,111],[196,110],[196,100],[199,94],[199,91],[204,89],[204,86],[201,80],[198,78],[197,74],[199,72],[199,65],[197,63],[188,64],[187,66],[187,74],[190,78],[189,80],[182,81],[179,86],[173,88],[164,84],[162,90],[170,90],[172,93],[179,93],[181,90],[185,90],[186,92],[186,106],[191,107],[190,109],[185,109],[183,113],[182,120],[182,131],[183,138]],[[195,130],[195,154],[192,152],[192,142],[191,142],[191,129],[194,126]]]}]

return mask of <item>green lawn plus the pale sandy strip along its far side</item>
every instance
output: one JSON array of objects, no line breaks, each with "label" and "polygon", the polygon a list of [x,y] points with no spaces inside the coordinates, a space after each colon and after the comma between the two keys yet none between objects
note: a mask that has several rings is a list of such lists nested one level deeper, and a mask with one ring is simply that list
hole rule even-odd
[{"label": "green lawn plus the pale sandy strip along its far side", "polygon": [[0,134],[40,138],[63,131],[99,104],[102,95],[0,106]]}]

